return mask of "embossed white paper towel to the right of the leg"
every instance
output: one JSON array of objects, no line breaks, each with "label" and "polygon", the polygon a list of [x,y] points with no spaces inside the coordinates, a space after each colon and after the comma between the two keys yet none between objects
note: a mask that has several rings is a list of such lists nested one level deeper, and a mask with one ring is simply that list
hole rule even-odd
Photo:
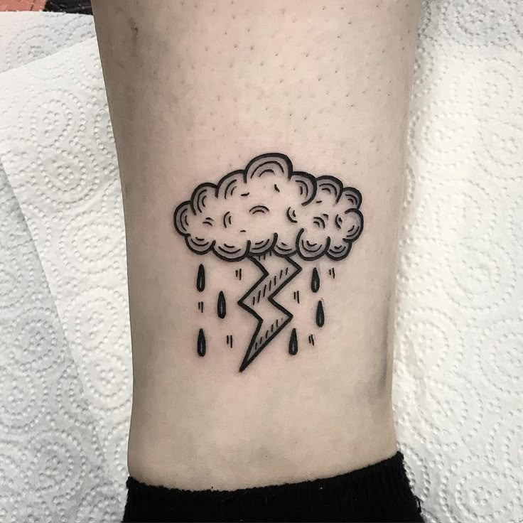
[{"label": "embossed white paper towel to the right of the leg", "polygon": [[523,4],[424,4],[394,404],[428,522],[523,519]]}]

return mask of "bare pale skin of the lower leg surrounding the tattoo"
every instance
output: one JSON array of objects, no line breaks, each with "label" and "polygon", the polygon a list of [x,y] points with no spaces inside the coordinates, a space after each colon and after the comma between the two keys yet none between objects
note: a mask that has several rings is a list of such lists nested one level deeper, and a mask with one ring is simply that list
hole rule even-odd
[{"label": "bare pale skin of the lower leg surrounding the tattoo", "polygon": [[[326,478],[394,455],[394,280],[418,2],[93,4],[126,221],[129,473],[152,485],[232,490]],[[339,262],[293,257],[302,272],[279,294],[292,321],[239,372],[257,322],[236,302],[259,271],[191,252],[173,212],[198,184],[270,152],[360,190],[365,228]],[[318,293],[307,290],[314,267]],[[215,313],[220,291],[225,319]],[[325,325],[314,330],[318,297]],[[205,357],[196,351],[202,327]]]}]

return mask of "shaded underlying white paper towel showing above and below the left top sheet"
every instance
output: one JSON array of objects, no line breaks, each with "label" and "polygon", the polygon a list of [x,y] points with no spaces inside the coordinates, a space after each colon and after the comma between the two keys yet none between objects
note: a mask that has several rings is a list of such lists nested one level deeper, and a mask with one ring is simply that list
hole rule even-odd
[{"label": "shaded underlying white paper towel showing above and below the left top sheet", "polygon": [[[3,14],[0,71],[92,36],[90,17]],[[124,489],[106,469],[36,246],[1,165],[0,223],[0,521],[119,521]]]}]

